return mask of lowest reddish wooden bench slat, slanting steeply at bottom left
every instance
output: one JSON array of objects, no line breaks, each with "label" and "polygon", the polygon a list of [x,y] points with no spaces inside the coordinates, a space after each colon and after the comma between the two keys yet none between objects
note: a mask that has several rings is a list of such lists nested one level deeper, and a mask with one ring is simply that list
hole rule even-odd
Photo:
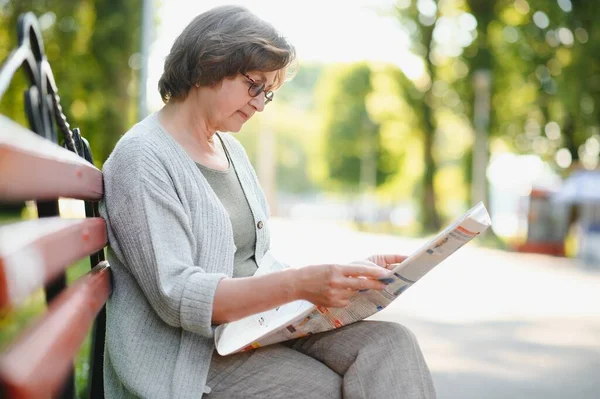
[{"label": "lowest reddish wooden bench slat, slanting steeply at bottom left", "polygon": [[61,293],[48,312],[0,356],[0,389],[9,398],[55,395],[111,291],[101,262]]}]

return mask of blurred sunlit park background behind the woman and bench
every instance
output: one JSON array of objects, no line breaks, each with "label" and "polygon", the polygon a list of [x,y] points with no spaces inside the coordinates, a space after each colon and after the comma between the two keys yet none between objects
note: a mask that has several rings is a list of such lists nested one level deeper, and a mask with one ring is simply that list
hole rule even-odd
[{"label": "blurred sunlit park background behind the woman and bench", "polygon": [[[220,4],[231,2],[0,0],[0,59],[18,15],[34,11],[65,113],[101,167],[162,106],[157,82],[177,35]],[[278,255],[302,265],[410,253],[483,201],[493,229],[377,317],[415,331],[440,398],[597,397],[598,2],[238,4],[299,57],[294,79],[236,135]],[[26,125],[24,84],[0,112]]]}]

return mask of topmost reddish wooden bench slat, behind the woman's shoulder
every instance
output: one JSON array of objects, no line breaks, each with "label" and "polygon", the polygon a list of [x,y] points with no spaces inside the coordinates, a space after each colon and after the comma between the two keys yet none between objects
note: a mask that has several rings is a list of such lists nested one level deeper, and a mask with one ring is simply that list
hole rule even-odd
[{"label": "topmost reddish wooden bench slat, behind the woman's shoulder", "polygon": [[0,199],[102,198],[94,165],[0,115]]}]

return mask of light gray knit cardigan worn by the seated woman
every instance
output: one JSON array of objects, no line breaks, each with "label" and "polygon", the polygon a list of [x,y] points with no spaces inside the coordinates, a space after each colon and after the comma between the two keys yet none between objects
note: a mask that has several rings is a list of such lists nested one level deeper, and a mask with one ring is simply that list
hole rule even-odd
[{"label": "light gray knit cardigan worn by the seated woman", "polygon": [[[243,147],[221,137],[254,215],[260,262],[269,247],[267,202]],[[233,273],[227,211],[157,114],[121,137],[103,172],[114,280],[106,397],[200,398],[214,350],[215,290]]]}]

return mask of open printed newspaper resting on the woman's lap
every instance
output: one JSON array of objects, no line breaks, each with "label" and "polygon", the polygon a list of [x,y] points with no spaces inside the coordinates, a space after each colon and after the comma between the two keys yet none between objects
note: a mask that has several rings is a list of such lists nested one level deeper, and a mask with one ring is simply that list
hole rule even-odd
[{"label": "open printed newspaper resting on the woman's lap", "polygon": [[[417,249],[402,263],[394,265],[382,291],[357,292],[344,308],[315,306],[298,300],[257,313],[215,330],[215,346],[220,355],[229,355],[339,328],[369,317],[388,306],[427,272],[491,225],[483,203],[455,220],[445,230]],[[255,275],[287,268],[267,252]]]}]

